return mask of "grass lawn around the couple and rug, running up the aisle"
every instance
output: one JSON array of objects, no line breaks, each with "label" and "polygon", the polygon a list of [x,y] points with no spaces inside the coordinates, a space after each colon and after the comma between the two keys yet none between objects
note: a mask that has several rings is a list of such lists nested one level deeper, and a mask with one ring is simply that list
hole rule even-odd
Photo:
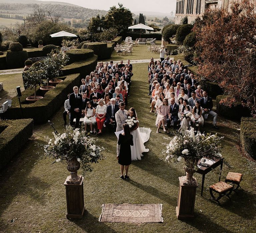
[{"label": "grass lawn around the couple and rug, running up the aisle", "polygon": [[[140,48],[141,54],[138,52],[136,59],[148,59],[152,56],[147,53],[144,45],[139,45],[134,50],[139,51]],[[114,57],[111,58],[113,61],[118,60]],[[125,60],[126,57],[121,59]],[[134,59],[132,57],[129,56],[131,60]],[[161,153],[164,148],[162,143],[168,142],[170,135],[156,134],[156,118],[154,114],[149,113],[147,64],[134,64],[133,67],[132,91],[126,109],[134,107],[140,126],[150,127],[152,132],[149,141],[145,143],[150,149],[149,152],[145,153],[141,161],[133,161],[130,166],[130,181],[119,178],[120,166],[116,160],[117,138],[113,133],[105,132],[97,138],[98,143],[106,148],[106,159],[93,164],[94,170],[87,173],[84,179],[84,218],[66,219],[63,183],[69,172],[65,164],[51,164],[53,159],[41,158],[43,150],[36,143],[45,143],[45,136],[52,137],[52,128],[48,123],[35,125],[33,136],[27,145],[12,159],[9,166],[0,172],[0,232],[255,232],[255,161],[241,155],[239,131],[236,129],[239,128],[239,123],[222,117],[218,117],[219,130],[211,128],[210,117],[203,129],[225,137],[222,151],[225,161],[221,180],[224,180],[228,171],[241,172],[244,174],[241,182],[244,191],[232,194],[232,202],[222,198],[222,205],[219,206],[209,200],[208,190],[209,185],[218,181],[219,170],[214,169],[206,175],[202,197],[202,176],[195,173],[199,183],[195,218],[177,220],[175,207],[179,188],[178,177],[184,175],[184,170],[181,163],[168,164],[164,161],[165,156]],[[0,80],[2,77],[3,75]],[[11,88],[13,87],[10,86]],[[50,119],[60,133],[64,130],[62,113],[63,106]],[[80,170],[79,172],[81,173]],[[164,222],[99,222],[103,203],[162,203]]]}]

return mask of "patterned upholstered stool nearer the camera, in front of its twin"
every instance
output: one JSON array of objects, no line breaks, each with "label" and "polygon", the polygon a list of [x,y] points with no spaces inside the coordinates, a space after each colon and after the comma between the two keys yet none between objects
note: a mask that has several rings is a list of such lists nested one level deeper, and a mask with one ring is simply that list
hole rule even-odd
[{"label": "patterned upholstered stool nearer the camera, in front of its twin", "polygon": [[[220,204],[219,199],[222,198],[223,196],[227,196],[230,199],[229,195],[231,194],[232,190],[233,190],[232,185],[225,183],[224,181],[220,181],[210,186],[210,194],[212,196],[211,199],[217,201]],[[219,196],[215,197],[212,191],[218,193]]]}]

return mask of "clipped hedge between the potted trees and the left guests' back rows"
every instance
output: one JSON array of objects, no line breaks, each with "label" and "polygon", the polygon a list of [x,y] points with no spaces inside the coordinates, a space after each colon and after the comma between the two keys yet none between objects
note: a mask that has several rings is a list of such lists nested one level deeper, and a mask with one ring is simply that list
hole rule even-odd
[{"label": "clipped hedge between the potted trees and the left guests' back rows", "polygon": [[79,61],[74,62],[70,65],[67,65],[63,68],[63,75],[70,75],[70,74],[78,74],[80,73],[81,78],[86,77],[89,75],[92,70],[95,70],[97,66],[97,56],[94,55],[93,57],[87,59],[86,61]]}]

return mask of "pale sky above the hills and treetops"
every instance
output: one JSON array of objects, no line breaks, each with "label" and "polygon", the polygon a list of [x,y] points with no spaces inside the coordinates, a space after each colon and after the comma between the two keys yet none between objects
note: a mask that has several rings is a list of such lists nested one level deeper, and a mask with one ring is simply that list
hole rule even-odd
[{"label": "pale sky above the hills and treetops", "polygon": [[[49,1],[49,0],[41,0]],[[176,0],[156,1],[156,0],[54,0],[55,2],[68,2],[74,5],[82,6],[90,9],[99,9],[108,11],[111,6],[118,6],[118,2],[122,3],[124,7],[131,10],[131,12],[137,11],[151,11],[151,12],[162,12],[163,17],[170,17],[170,12],[175,12]],[[174,13],[175,14],[175,13]]]}]

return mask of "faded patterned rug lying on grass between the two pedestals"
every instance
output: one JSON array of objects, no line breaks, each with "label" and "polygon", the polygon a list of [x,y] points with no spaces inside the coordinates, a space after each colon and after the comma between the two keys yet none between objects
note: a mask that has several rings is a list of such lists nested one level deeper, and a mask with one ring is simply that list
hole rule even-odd
[{"label": "faded patterned rug lying on grass between the two pedestals", "polygon": [[100,222],[163,222],[162,204],[103,204]]}]

